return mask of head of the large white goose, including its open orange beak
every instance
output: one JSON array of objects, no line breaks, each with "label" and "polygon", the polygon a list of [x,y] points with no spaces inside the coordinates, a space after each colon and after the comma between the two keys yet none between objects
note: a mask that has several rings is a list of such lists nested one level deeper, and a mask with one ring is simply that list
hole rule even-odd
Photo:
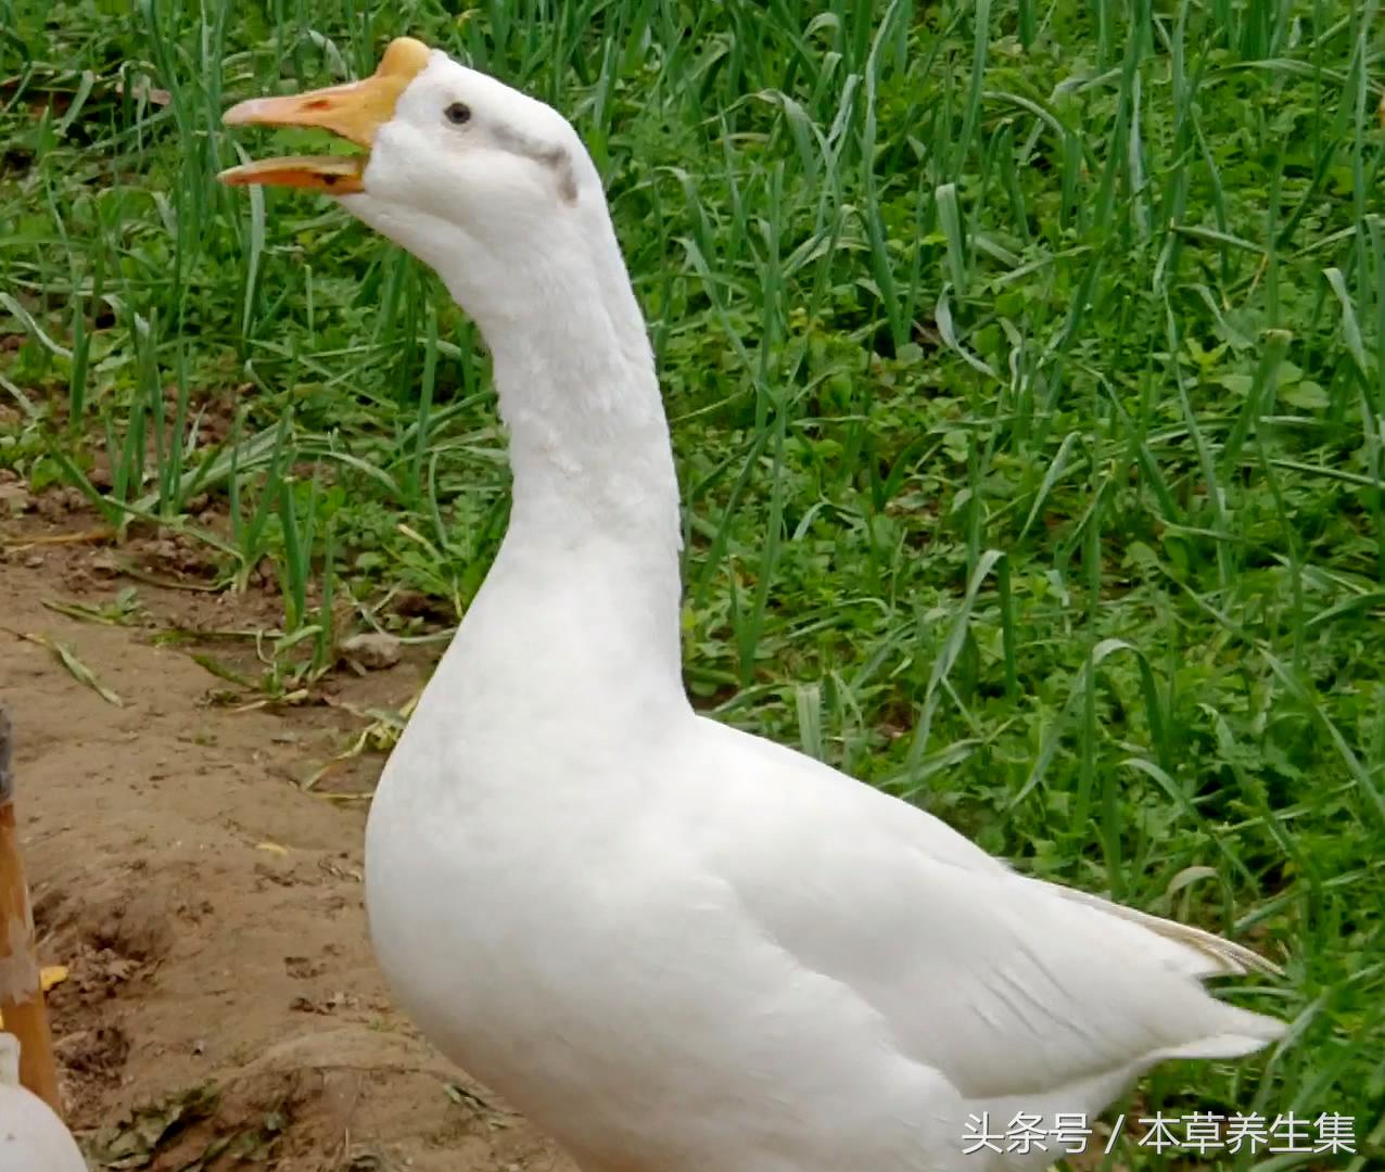
[{"label": "head of the large white goose, including its open orange beak", "polygon": [[[590,273],[609,260],[601,180],[568,121],[413,37],[391,42],[363,80],[251,98],[223,121],[316,127],[359,147],[259,159],[219,179],[338,199],[438,270],[482,324],[494,316],[488,309],[518,312],[555,273],[561,283],[565,270]],[[535,280],[525,281],[526,272]]]}]

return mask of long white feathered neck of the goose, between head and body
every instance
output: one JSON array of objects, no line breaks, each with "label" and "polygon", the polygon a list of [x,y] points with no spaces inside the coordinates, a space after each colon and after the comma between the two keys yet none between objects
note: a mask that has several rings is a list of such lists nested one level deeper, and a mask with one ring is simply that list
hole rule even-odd
[{"label": "long white feathered neck of the goose, between head and body", "polygon": [[510,431],[510,529],[463,632],[474,616],[492,630],[511,625],[530,650],[540,632],[562,655],[529,665],[535,675],[607,691],[623,680],[686,704],[677,477],[604,201],[503,255],[377,226],[432,265],[481,327]]}]

